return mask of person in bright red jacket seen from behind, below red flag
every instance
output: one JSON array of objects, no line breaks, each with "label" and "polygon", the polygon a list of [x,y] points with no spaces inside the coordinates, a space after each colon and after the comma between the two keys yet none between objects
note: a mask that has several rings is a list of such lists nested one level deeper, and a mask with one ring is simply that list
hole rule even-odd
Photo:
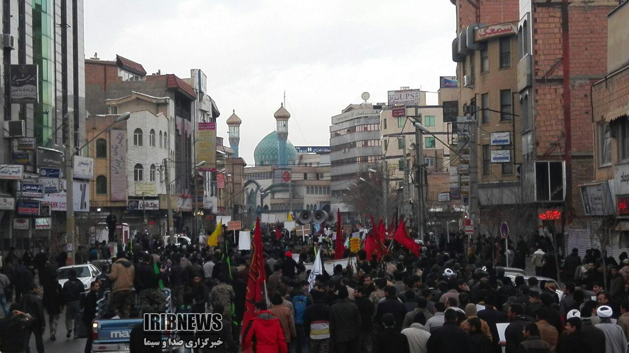
[{"label": "person in bright red jacket seen from behind, below red flag", "polygon": [[242,349],[254,346],[256,353],[287,353],[284,332],[279,319],[267,310],[267,303],[255,303],[255,318],[245,328]]}]

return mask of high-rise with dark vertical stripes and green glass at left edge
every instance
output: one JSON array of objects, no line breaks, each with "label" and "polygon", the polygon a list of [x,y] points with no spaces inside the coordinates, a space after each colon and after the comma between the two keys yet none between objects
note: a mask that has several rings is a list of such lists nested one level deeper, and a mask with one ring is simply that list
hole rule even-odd
[{"label": "high-rise with dark vertical stripes and green glass at left edge", "polygon": [[[62,127],[67,116],[74,122],[75,145],[84,141],[83,1],[4,0],[0,14],[3,19],[3,65],[0,67],[3,121],[21,120],[25,125],[24,134],[21,128],[18,128],[19,133],[0,130],[0,164],[16,165],[18,161],[24,172],[35,173],[38,165],[34,150],[22,149],[25,146],[18,145],[17,138],[13,137],[34,138],[38,147],[62,150],[61,145],[65,143]],[[11,65],[36,65],[37,79],[34,80],[34,68]],[[31,103],[18,103],[16,99],[20,97],[11,96],[11,78],[20,75],[33,78],[28,81],[28,88],[33,98],[36,94],[36,100]],[[28,155],[28,161],[14,160],[14,153]],[[33,179],[34,174],[28,175]],[[0,206],[0,222],[4,225],[13,225],[17,186],[15,180],[0,177],[0,195],[11,200],[9,206]],[[65,213],[54,211],[51,217],[53,224],[64,227]],[[28,229],[22,226],[0,228],[1,250],[11,245],[24,249],[32,244],[33,235],[47,234],[48,231],[33,230],[32,217],[23,220]]]}]

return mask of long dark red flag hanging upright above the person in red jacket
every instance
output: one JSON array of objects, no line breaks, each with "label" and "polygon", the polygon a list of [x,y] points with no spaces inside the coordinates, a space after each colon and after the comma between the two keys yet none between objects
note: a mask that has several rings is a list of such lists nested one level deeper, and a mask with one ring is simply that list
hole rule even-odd
[{"label": "long dark red flag hanging upright above the person in red jacket", "polygon": [[247,293],[245,293],[245,313],[242,318],[242,327],[247,327],[247,323],[254,317],[253,310],[255,303],[264,298],[264,257],[262,255],[262,232],[260,232],[260,219],[255,221],[255,231],[253,232],[253,242],[251,249],[251,265],[249,266],[249,276],[247,279]]}]

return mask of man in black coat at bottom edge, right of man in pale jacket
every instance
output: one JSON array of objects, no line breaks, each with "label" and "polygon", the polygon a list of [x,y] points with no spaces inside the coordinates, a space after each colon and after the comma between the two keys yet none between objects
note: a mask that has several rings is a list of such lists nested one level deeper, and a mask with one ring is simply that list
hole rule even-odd
[{"label": "man in black coat at bottom edge, right of man in pale jacket", "polygon": [[428,353],[469,352],[469,338],[458,321],[459,315],[455,310],[445,311],[443,326],[434,330],[426,342]]}]

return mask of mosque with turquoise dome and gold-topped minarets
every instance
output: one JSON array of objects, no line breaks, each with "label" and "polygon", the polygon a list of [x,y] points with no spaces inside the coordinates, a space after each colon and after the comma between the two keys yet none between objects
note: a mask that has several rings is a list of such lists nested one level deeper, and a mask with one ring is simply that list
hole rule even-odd
[{"label": "mosque with turquoise dome and gold-topped minarets", "polygon": [[[291,212],[330,211],[329,148],[298,153],[298,148],[288,140],[291,114],[284,104],[277,109],[274,118],[276,130],[260,140],[253,152],[255,165],[244,169],[242,211],[247,224],[253,223],[256,217],[286,221]],[[230,121],[240,125],[240,118],[227,120],[231,133]],[[238,150],[231,138],[230,144],[233,150]]]}]

